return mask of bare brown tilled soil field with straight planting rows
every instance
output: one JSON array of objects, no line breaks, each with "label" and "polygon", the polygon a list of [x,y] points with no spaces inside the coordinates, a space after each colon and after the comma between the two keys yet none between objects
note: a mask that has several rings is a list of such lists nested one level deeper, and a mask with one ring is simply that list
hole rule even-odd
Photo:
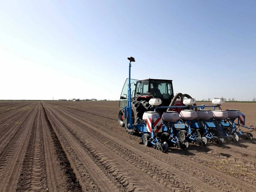
[{"label": "bare brown tilled soil field with straight planting rows", "polygon": [[[221,108],[256,125],[256,103]],[[256,191],[256,139],[163,153],[119,127],[118,109],[111,101],[0,102],[0,191]]]}]

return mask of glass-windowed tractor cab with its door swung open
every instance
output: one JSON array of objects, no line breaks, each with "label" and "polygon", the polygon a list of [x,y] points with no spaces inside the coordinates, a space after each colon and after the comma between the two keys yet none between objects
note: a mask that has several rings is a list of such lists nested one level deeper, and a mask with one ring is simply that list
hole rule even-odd
[{"label": "glass-windowed tractor cab with its door swung open", "polygon": [[[122,89],[119,107],[127,105],[128,79]],[[160,98],[163,106],[169,106],[174,96],[172,80],[165,79],[131,79],[131,100],[149,102],[151,98]]]}]

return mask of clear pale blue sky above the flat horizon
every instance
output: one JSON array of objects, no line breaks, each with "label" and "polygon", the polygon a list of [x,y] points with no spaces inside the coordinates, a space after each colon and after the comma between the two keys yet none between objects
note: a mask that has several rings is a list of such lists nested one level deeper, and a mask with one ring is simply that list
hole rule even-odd
[{"label": "clear pale blue sky above the flat horizon", "polygon": [[118,100],[128,78],[256,97],[255,0],[0,0],[0,99]]}]

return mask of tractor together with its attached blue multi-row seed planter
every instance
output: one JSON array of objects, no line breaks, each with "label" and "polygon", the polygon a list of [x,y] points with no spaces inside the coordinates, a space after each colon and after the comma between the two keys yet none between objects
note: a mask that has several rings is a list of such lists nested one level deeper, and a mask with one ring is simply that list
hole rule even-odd
[{"label": "tractor together with its attached blue multi-row seed planter", "polygon": [[167,151],[169,146],[186,150],[189,143],[204,146],[210,141],[221,145],[226,138],[230,142],[253,138],[251,133],[238,130],[254,129],[252,125],[244,126],[244,113],[221,110],[224,99],[214,99],[213,105],[197,106],[188,94],[174,95],[172,80],[131,79],[131,63],[135,59],[128,60],[129,78],[122,89],[118,122],[128,134],[140,133],[144,145],[160,151]]}]

